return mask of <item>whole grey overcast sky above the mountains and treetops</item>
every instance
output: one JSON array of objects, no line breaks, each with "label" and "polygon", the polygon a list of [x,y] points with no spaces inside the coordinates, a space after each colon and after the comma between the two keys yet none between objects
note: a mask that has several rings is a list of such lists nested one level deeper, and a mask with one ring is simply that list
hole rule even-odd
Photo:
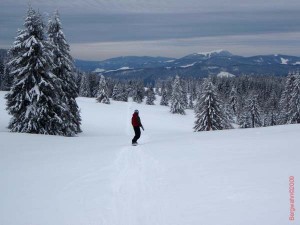
[{"label": "whole grey overcast sky above the mountains and treetops", "polygon": [[75,58],[178,58],[216,49],[300,56],[299,0],[0,1],[0,48],[12,45],[30,2],[45,21],[59,10]]}]

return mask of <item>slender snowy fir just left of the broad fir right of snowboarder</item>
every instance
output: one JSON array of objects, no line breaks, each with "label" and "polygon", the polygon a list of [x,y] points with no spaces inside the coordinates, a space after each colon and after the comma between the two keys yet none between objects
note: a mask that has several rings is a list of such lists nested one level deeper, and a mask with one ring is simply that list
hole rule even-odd
[{"label": "slender snowy fir just left of the broad fir right of snowboarder", "polygon": [[183,91],[181,87],[181,82],[179,76],[175,77],[175,80],[173,82],[173,90],[172,90],[172,96],[171,96],[171,113],[177,113],[177,114],[185,114],[185,107],[186,103],[184,101]]}]

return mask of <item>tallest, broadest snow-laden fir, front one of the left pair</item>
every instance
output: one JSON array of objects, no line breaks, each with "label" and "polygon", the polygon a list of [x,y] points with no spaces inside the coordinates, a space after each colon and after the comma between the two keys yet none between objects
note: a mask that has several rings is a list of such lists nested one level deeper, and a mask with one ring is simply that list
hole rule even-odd
[{"label": "tallest, broadest snow-laden fir, front one of the left pair", "polygon": [[12,132],[68,135],[64,130],[67,106],[61,101],[61,80],[52,73],[51,45],[39,13],[27,11],[24,29],[10,49],[14,82],[6,95]]}]

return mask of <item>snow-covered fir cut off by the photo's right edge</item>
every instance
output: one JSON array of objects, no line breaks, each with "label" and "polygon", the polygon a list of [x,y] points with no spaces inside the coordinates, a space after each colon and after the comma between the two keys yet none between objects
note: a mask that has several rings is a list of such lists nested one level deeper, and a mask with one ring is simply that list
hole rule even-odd
[{"label": "snow-covered fir cut off by the photo's right edge", "polygon": [[300,123],[300,74],[299,71],[295,73],[291,90],[291,98],[289,101],[289,108],[287,109],[288,120],[287,123]]}]

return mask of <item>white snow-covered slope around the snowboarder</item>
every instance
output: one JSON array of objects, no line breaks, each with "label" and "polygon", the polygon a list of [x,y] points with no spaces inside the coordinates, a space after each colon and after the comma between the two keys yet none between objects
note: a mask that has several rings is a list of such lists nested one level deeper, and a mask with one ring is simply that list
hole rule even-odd
[{"label": "white snow-covered slope around the snowboarder", "polygon": [[[78,98],[83,133],[9,133],[0,92],[2,225],[285,225],[299,207],[300,126],[199,132],[194,115]],[[145,131],[130,145],[131,114]],[[294,224],[299,223],[296,211]]]}]

